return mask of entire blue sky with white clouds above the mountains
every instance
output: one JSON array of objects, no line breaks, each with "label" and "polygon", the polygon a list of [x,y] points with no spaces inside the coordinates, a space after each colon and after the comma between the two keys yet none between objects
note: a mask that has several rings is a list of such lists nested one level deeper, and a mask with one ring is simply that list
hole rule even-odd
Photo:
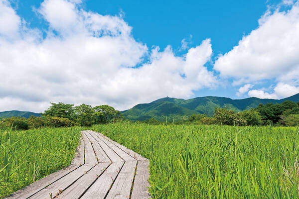
[{"label": "entire blue sky with white clouds above the mountains", "polygon": [[298,0],[0,0],[0,111],[299,93]]}]

